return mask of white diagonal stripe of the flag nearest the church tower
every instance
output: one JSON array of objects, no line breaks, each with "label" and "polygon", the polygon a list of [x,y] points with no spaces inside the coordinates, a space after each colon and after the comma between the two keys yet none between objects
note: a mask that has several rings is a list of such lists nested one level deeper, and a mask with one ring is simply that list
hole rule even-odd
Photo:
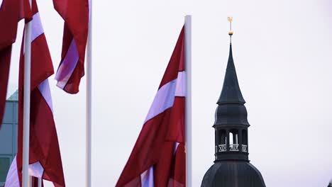
[{"label": "white diagonal stripe of the flag nearest the church tower", "polygon": [[174,79],[164,86],[162,86],[155,95],[153,104],[150,107],[150,111],[145,118],[145,122],[155,118],[167,108],[171,108],[174,103],[175,96],[185,96],[185,72],[179,72],[177,79]]}]

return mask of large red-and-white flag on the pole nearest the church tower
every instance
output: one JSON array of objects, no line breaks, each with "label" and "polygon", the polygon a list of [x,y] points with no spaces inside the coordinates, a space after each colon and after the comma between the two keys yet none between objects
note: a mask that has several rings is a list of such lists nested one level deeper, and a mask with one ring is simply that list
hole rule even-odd
[{"label": "large red-and-white flag on the pole nearest the church tower", "polygon": [[182,28],[143,129],[116,186],[185,186],[185,74]]}]

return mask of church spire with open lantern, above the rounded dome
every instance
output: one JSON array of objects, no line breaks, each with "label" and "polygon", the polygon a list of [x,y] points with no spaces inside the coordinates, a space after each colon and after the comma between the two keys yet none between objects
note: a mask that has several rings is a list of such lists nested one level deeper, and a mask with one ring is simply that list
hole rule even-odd
[{"label": "church spire with open lantern, above the rounded dome", "polygon": [[[228,18],[231,22],[231,19]],[[233,35],[230,30],[228,35]],[[248,119],[245,100],[238,86],[238,77],[233,61],[230,42],[228,63],[223,89],[218,98],[214,121],[216,130],[216,162],[221,160],[248,161]]]}]

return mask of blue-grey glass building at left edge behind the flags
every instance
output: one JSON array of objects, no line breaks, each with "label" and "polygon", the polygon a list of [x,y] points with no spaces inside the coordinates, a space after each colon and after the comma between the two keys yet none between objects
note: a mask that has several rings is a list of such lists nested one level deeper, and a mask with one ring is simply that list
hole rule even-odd
[{"label": "blue-grey glass building at left edge behind the flags", "polygon": [[17,152],[18,91],[6,101],[4,120],[0,129],[0,187]]}]

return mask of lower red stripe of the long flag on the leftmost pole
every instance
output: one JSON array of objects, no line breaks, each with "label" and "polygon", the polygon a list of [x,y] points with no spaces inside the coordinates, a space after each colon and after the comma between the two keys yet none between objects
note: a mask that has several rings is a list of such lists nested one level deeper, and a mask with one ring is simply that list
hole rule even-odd
[{"label": "lower red stripe of the long flag on the leftmost pole", "polygon": [[43,98],[39,89],[31,92],[31,137],[30,164],[40,162],[43,166],[43,179],[56,183],[57,186],[65,186],[63,176],[62,160],[57,140],[57,131],[52,111]]}]

